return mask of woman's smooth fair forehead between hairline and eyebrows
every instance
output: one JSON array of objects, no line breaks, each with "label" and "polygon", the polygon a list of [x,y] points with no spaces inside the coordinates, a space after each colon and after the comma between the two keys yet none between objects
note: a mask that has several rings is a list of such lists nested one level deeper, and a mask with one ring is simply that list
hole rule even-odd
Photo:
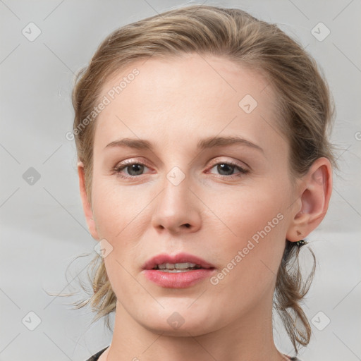
[{"label": "woman's smooth fair forehead between hairline and eyebrows", "polygon": [[99,99],[105,98],[109,104],[97,118],[94,147],[116,137],[169,145],[221,132],[245,133],[254,142],[280,137],[267,78],[216,56],[135,61],[104,83]]}]

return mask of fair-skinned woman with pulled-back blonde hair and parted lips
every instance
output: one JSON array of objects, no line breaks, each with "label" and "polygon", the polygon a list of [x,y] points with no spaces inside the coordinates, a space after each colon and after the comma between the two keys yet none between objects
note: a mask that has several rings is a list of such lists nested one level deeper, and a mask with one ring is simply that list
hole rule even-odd
[{"label": "fair-skinned woman with pulled-back blonde hair and parted lips", "polygon": [[[89,360],[298,360],[312,279],[298,254],[324,218],[336,166],[316,63],[276,25],[188,6],[126,25],[73,90],[80,195],[92,237]],[[313,255],[313,253],[312,253]],[[109,318],[108,318],[109,324]]]}]

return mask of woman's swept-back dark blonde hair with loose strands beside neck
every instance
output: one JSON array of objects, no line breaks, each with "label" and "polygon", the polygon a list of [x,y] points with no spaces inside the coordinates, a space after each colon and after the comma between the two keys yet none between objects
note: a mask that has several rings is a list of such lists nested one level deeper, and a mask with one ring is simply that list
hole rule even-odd
[{"label": "woman's swept-back dark blonde hair with loose strands beside neck", "polygon": [[[336,166],[328,140],[334,106],[317,64],[304,49],[274,24],[254,18],[236,8],[186,6],[123,26],[112,32],[95,52],[89,66],[75,80],[74,134],[78,159],[85,169],[85,185],[91,203],[92,152],[95,119],[82,121],[99,102],[104,82],[139,59],[150,56],[177,57],[198,53],[222,56],[267,75],[277,94],[279,127],[290,143],[289,167],[294,177],[305,174],[313,161],[326,157]],[[300,306],[310,288],[315,262],[306,280],[298,267],[300,247],[286,240],[274,293],[279,312],[296,353],[310,341],[311,327]],[[312,257],[314,254],[312,250]],[[116,295],[111,288],[104,261],[96,255],[89,275],[92,295],[76,302],[75,308],[91,305],[97,312],[93,322],[115,310]],[[297,324],[296,324],[297,323]],[[110,329],[110,327],[109,327]]]}]

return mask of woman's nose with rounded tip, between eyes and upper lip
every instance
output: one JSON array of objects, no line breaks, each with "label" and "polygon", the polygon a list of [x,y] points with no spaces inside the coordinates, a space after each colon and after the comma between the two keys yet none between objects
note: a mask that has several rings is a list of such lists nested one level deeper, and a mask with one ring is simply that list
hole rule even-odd
[{"label": "woman's nose with rounded tip, between eyes and upper lip", "polygon": [[159,233],[196,232],[202,224],[201,204],[190,189],[187,177],[178,185],[165,179],[164,190],[157,197],[152,225]]}]

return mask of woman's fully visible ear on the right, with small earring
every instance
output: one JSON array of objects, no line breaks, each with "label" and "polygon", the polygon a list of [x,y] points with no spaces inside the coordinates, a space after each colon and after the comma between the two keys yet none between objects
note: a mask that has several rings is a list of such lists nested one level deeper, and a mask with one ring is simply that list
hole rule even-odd
[{"label": "woman's fully visible ear on the right, with small earring", "polygon": [[310,170],[302,177],[301,192],[295,202],[295,213],[286,238],[291,242],[304,239],[324,219],[332,192],[332,167],[325,157],[314,161]]}]

